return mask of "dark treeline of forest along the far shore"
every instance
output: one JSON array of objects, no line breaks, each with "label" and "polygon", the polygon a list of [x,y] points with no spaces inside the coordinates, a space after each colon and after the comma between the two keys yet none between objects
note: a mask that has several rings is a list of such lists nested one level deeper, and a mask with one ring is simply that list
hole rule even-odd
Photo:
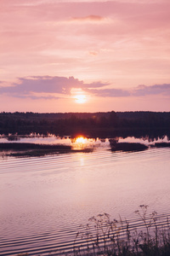
[{"label": "dark treeline of forest along the far shore", "polygon": [[170,112],[0,113],[0,134],[48,133],[85,137],[163,137],[170,134]]}]

